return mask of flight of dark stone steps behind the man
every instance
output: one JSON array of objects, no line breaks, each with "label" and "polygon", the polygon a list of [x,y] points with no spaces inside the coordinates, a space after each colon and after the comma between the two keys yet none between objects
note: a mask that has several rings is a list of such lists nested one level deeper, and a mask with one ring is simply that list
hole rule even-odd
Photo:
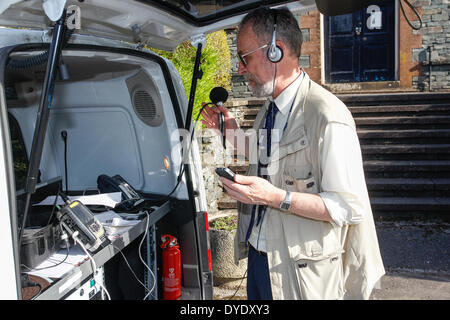
[{"label": "flight of dark stone steps behind the man", "polygon": [[[352,112],[367,187],[379,217],[450,213],[450,95],[393,93],[338,95]],[[240,102],[241,106],[245,102]],[[264,100],[243,108],[241,128],[252,128]],[[394,160],[397,159],[397,160]],[[426,160],[429,159],[429,160]],[[229,166],[243,174],[247,164]],[[223,193],[221,209],[236,201]]]}]

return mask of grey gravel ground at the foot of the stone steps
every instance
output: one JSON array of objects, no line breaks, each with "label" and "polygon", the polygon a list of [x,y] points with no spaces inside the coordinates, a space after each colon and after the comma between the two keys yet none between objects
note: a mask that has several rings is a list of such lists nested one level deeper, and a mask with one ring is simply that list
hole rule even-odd
[{"label": "grey gravel ground at the foot of the stone steps", "polygon": [[[432,222],[377,222],[386,269],[371,300],[450,300],[450,225]],[[214,287],[214,299],[246,300],[245,281]],[[236,293],[235,293],[236,292]]]}]

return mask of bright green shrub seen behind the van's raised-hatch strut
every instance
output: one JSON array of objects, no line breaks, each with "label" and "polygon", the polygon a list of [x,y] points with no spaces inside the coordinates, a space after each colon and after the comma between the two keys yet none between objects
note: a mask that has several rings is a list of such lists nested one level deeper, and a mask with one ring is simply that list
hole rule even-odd
[{"label": "bright green shrub seen behind the van's raised-hatch strut", "polygon": [[[174,52],[152,50],[172,61],[181,76],[189,99],[196,49],[189,41],[186,41],[180,44]],[[200,70],[202,70],[203,76],[197,80],[192,112],[193,120],[197,118],[201,103],[210,101],[209,93],[212,88],[221,86],[229,90],[231,87],[231,55],[225,31],[221,30],[206,35],[206,46],[202,50]]]}]

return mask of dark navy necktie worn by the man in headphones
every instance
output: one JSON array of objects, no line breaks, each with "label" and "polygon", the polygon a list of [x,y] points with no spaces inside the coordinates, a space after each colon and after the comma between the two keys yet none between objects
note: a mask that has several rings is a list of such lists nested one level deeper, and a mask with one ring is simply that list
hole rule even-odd
[{"label": "dark navy necktie worn by the man in headphones", "polygon": [[[275,117],[276,114],[278,112],[278,108],[276,106],[276,104],[274,102],[271,102],[269,104],[269,108],[267,110],[267,114],[266,114],[266,121],[265,121],[265,126],[264,126],[264,130],[266,131],[266,159],[269,159],[270,154],[272,152],[272,129],[273,126],[275,125]],[[267,168],[268,162],[263,164],[261,163],[261,155],[259,156],[259,160],[258,160],[258,176],[268,180],[269,176],[266,174],[261,175],[261,168]],[[250,238],[250,234],[251,231],[253,229],[253,224],[255,222],[255,213],[256,213],[256,207],[258,207],[258,217],[256,220],[256,225],[259,225],[262,221],[262,218],[264,217],[264,214],[266,212],[266,206],[258,206],[258,205],[254,205],[253,209],[252,209],[252,216],[250,218],[250,225],[248,227],[247,230],[247,235],[245,238],[245,243],[247,243],[248,239]]]}]

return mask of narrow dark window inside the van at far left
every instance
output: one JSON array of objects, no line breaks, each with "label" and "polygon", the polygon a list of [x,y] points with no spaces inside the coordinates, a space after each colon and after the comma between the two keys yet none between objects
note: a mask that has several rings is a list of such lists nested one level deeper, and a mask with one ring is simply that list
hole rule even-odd
[{"label": "narrow dark window inside the van at far left", "polygon": [[9,134],[11,136],[11,149],[14,160],[14,177],[16,181],[16,190],[25,187],[25,180],[28,173],[28,156],[23,141],[22,131],[16,118],[8,113]]}]

